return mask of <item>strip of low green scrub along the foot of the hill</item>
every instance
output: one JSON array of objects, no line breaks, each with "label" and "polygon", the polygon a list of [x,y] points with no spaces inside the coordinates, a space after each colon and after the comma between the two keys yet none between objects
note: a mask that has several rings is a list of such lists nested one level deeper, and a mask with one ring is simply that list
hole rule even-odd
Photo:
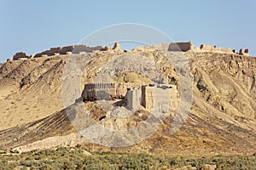
[{"label": "strip of low green scrub along the foot of the hill", "polygon": [[0,169],[254,169],[252,156],[161,156],[93,152],[84,147],[59,147],[15,153],[1,150]]}]

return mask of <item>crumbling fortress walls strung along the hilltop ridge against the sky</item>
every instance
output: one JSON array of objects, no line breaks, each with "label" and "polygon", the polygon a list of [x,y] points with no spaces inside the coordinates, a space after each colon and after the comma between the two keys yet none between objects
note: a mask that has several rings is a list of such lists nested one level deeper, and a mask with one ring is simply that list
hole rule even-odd
[{"label": "crumbling fortress walls strung along the hilltop ridge against the sky", "polygon": [[[171,42],[169,45],[166,44],[164,50],[168,51],[192,51],[192,52],[210,52],[210,53],[223,53],[223,54],[239,54],[239,55],[249,55],[249,49],[240,49],[238,53],[236,53],[235,49],[231,48],[218,48],[216,46],[201,44],[201,47],[196,47],[192,42]],[[103,48],[102,46],[96,47],[88,47],[86,45],[72,45],[66,47],[58,47],[58,48],[50,48],[39,54],[27,55],[24,52],[18,52],[14,55],[13,58],[8,59],[16,60],[16,59],[31,59],[31,58],[40,58],[40,57],[48,57],[55,55],[63,55],[63,54],[84,54],[84,53],[93,53],[95,51],[111,51],[113,52],[126,52],[126,50],[122,50],[121,46],[118,42],[114,43],[113,48],[108,46]]]}]

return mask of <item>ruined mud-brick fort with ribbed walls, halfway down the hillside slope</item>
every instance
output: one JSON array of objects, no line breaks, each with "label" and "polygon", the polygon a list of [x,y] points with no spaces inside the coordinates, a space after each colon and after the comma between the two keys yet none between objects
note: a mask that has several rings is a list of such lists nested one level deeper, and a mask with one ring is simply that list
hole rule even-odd
[{"label": "ruined mud-brick fort with ribbed walls, halfway down the hillside slope", "polygon": [[137,110],[143,105],[147,110],[165,104],[177,108],[177,87],[168,84],[140,85],[136,83],[90,83],[84,85],[84,101],[124,100],[130,110]]}]

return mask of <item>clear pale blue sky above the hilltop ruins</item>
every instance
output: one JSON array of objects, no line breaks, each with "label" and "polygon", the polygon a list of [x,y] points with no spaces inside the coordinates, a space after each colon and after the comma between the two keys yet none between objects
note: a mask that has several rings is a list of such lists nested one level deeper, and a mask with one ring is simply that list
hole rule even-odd
[{"label": "clear pale blue sky above the hilltop ruins", "polygon": [[153,26],[177,42],[249,48],[256,55],[254,0],[0,0],[0,62],[19,51],[77,44],[92,31],[120,23]]}]

